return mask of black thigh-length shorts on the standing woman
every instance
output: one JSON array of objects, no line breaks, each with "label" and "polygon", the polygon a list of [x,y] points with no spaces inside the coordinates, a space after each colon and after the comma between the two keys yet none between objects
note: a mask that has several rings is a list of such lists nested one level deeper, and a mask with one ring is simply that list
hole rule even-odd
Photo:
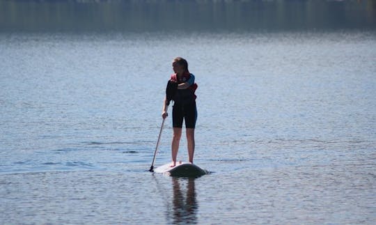
[{"label": "black thigh-length shorts on the standing woman", "polygon": [[185,128],[194,128],[196,126],[196,102],[190,104],[173,104],[173,127],[182,128],[183,119],[185,121]]}]

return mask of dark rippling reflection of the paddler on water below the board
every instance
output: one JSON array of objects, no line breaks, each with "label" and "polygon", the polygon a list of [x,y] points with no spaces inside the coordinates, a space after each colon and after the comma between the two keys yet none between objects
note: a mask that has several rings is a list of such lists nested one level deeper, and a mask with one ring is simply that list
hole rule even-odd
[{"label": "dark rippling reflection of the paddler on water below the board", "polygon": [[197,222],[196,212],[198,205],[196,201],[196,191],[194,187],[194,178],[187,180],[187,195],[184,198],[182,190],[180,189],[179,178],[172,178],[173,180],[173,222],[174,224],[184,223],[191,224]]}]

